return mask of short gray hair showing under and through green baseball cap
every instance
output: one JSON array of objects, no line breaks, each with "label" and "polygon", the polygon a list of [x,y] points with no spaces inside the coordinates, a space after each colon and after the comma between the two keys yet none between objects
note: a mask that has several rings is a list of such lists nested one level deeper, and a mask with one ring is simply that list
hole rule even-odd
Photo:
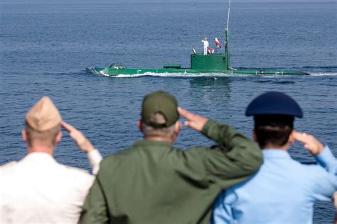
[{"label": "short gray hair showing under and through green baseball cap", "polygon": [[[150,116],[149,120],[154,123],[164,124],[166,123],[166,118],[161,113],[154,113]],[[143,123],[143,134],[145,137],[164,137],[171,138],[175,130],[175,124],[164,127],[164,128],[154,128],[150,125]]]}]

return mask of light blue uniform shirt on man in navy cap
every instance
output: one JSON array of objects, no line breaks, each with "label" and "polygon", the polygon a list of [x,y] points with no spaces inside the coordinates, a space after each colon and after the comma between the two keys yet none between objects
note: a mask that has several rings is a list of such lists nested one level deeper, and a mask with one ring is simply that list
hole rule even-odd
[{"label": "light blue uniform shirt on man in navy cap", "polygon": [[326,146],[318,164],[301,164],[284,150],[262,150],[264,162],[249,180],[223,191],[213,223],[312,223],[315,201],[331,201],[337,160]]}]

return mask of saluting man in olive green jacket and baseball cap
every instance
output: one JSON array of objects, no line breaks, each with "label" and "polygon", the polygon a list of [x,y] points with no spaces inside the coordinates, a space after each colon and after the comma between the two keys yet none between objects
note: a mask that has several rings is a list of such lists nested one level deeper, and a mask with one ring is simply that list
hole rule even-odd
[{"label": "saluting man in olive green jacket and baseball cap", "polygon": [[[173,147],[185,125],[215,147]],[[82,211],[84,223],[209,223],[216,196],[245,181],[262,164],[255,142],[230,126],[178,108],[163,91],[145,96],[144,140],[102,160]]]}]

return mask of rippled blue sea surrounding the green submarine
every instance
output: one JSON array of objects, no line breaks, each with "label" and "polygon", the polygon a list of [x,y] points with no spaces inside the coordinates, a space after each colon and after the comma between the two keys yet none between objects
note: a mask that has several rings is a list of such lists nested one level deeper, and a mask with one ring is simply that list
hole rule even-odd
[{"label": "rippled blue sea surrounding the green submarine", "polygon": [[[231,67],[297,69],[310,76],[185,74],[107,78],[84,70],[121,62],[127,67],[189,67],[202,38],[220,38],[225,3],[113,4],[0,2],[0,165],[21,159],[24,116],[50,96],[68,123],[107,156],[141,138],[141,99],[150,91],[174,94],[184,108],[250,136],[245,107],[264,91],[284,91],[304,110],[295,128],[312,133],[337,155],[337,6],[311,3],[237,3],[230,15]],[[213,43],[211,43],[212,45]],[[58,162],[89,169],[68,134],[55,150]],[[184,128],[177,147],[210,145]],[[313,157],[296,143],[291,156]],[[314,223],[332,223],[331,203],[317,203]]]}]

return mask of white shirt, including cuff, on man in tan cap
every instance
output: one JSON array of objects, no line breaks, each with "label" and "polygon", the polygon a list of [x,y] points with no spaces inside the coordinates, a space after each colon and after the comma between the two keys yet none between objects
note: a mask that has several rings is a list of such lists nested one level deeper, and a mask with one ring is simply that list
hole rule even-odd
[{"label": "white shirt, including cuff, on man in tan cap", "polygon": [[[97,174],[102,156],[87,154]],[[95,176],[41,152],[0,167],[0,223],[77,223]]]}]

